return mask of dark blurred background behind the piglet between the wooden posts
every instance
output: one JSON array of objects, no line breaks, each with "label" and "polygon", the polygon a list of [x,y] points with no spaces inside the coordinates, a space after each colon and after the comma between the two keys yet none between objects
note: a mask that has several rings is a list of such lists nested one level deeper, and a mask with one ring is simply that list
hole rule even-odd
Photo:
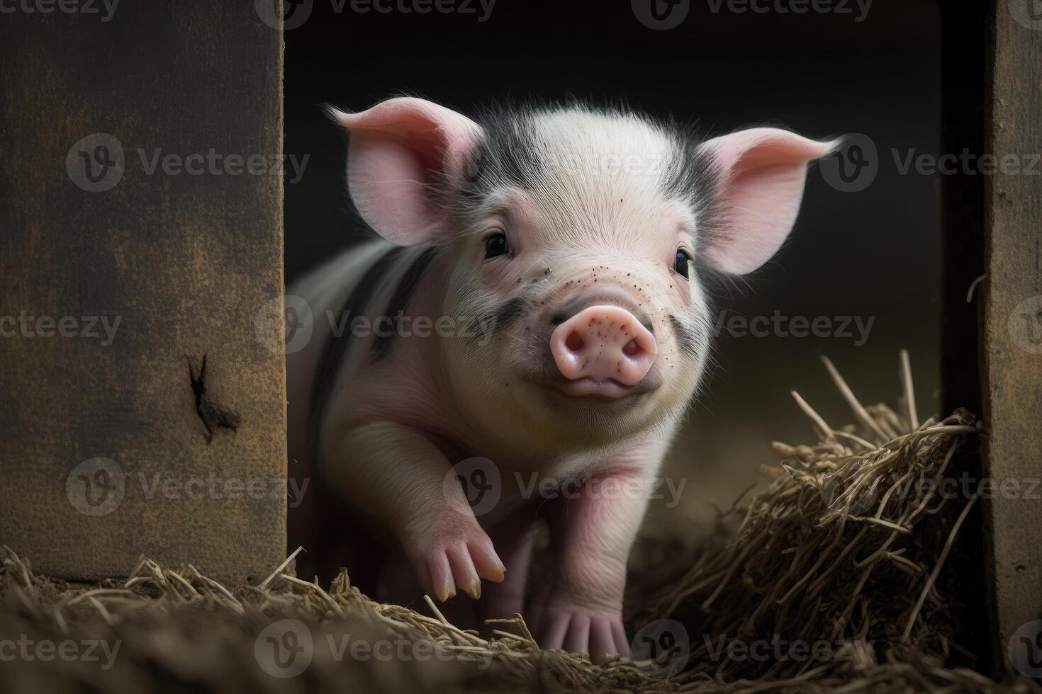
[{"label": "dark blurred background behind the piglet between the wooden posts", "polygon": [[939,411],[941,180],[902,175],[892,152],[940,154],[936,4],[875,0],[862,21],[852,1],[851,14],[740,14],[726,4],[715,12],[714,4],[692,0],[687,19],[664,31],[643,25],[629,2],[498,0],[479,22],[476,3],[475,14],[358,14],[315,0],[307,21],[286,31],[286,150],[309,155],[302,179],[286,187],[288,285],[362,226],[326,102],[358,110],[406,93],[468,113],[492,99],[621,99],[697,119],[710,134],[769,124],[816,138],[864,133],[875,144],[871,185],[843,192],[812,170],[790,241],[718,300],[728,316],[874,317],[868,341],[720,335],[704,394],[670,456],[668,473],[690,477],[683,503],[653,507],[649,532],[675,526],[676,513],[711,517],[706,500],[729,505],[761,464],[776,461],[771,440],[814,441],[790,390],[834,427],[853,420],[822,354],[862,402],[896,406],[897,351],[908,348],[920,416]]}]

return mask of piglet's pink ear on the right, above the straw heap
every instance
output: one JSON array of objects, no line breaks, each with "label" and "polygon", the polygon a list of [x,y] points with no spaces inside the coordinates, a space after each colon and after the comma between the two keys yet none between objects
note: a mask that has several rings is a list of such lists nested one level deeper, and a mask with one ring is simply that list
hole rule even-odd
[{"label": "piglet's pink ear on the right, above the straw heap", "polygon": [[777,128],[751,128],[706,140],[716,164],[724,224],[706,255],[725,273],[751,273],[782,247],[799,212],[807,164],[840,140],[818,143]]}]

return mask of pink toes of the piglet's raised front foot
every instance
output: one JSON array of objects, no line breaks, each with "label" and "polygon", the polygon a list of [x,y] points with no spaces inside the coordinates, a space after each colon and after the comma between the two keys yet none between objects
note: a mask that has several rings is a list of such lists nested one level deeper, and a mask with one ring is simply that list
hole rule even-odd
[{"label": "pink toes of the piglet's raised front foot", "polygon": [[417,568],[427,589],[442,602],[453,597],[456,589],[476,600],[481,597],[481,579],[500,583],[506,571],[480,528],[425,542],[417,549]]}]

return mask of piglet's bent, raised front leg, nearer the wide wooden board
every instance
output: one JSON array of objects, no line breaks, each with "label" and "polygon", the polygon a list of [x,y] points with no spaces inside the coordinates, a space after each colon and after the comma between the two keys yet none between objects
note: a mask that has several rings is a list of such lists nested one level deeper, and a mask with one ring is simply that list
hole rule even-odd
[{"label": "piglet's bent, raised front leg, nearer the wide wooden board", "polygon": [[448,460],[421,433],[366,425],[328,433],[322,451],[325,478],[394,533],[431,595],[445,601],[458,588],[477,598],[480,579],[503,580],[503,563],[462,487],[444,484]]}]

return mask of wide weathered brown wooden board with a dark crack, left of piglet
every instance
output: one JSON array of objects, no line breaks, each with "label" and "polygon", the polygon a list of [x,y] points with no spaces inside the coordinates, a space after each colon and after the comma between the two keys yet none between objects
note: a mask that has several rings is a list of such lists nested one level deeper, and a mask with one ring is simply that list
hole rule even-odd
[{"label": "wide weathered brown wooden board with a dark crack, left of piglet", "polygon": [[[0,22],[0,320],[120,320],[108,345],[100,328],[65,337],[47,322],[0,323],[0,542],[68,579],[125,575],[140,554],[263,577],[286,552],[283,356],[277,322],[262,322],[265,339],[254,325],[281,301],[282,179],[205,157],[277,159],[281,34],[252,2],[103,15]],[[92,133],[124,153],[105,191],[69,173],[85,172],[70,149]],[[157,153],[201,155],[203,173],[150,172]],[[94,173],[114,155],[88,151]],[[204,355],[200,416],[190,364],[198,376]],[[73,497],[115,498],[104,489],[117,480],[70,482],[96,457],[124,488],[103,515]]]}]

